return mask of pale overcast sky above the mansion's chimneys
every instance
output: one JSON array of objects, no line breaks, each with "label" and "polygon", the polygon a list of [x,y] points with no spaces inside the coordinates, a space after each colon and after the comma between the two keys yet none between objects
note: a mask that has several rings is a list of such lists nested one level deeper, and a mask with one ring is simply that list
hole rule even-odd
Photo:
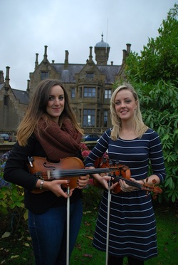
[{"label": "pale overcast sky above the mansion's chimneys", "polygon": [[36,53],[43,60],[85,63],[89,47],[101,41],[110,46],[108,63],[122,63],[122,50],[140,53],[148,38],[158,36],[177,0],[0,0],[0,70],[10,67],[11,88],[26,90]]}]

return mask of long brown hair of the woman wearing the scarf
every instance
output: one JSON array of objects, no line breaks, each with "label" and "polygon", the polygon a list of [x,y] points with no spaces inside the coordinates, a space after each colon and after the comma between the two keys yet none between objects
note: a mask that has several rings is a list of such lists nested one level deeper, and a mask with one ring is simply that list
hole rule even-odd
[{"label": "long brown hair of the woman wearing the scarf", "polygon": [[45,79],[39,83],[33,93],[31,101],[28,105],[26,115],[21,121],[18,131],[17,131],[17,140],[19,145],[26,146],[28,137],[30,137],[35,129],[38,130],[37,124],[40,118],[43,116],[45,118],[47,126],[50,125],[51,116],[46,113],[46,106],[48,105],[48,98],[51,93],[51,88],[54,85],[60,85],[64,93],[64,110],[59,117],[58,125],[61,127],[63,123],[63,118],[67,117],[71,120],[73,128],[78,130],[78,132],[83,134],[83,130],[78,125],[78,122],[75,117],[73,108],[71,108],[69,103],[68,94],[66,93],[65,88],[60,83],[59,80]]}]

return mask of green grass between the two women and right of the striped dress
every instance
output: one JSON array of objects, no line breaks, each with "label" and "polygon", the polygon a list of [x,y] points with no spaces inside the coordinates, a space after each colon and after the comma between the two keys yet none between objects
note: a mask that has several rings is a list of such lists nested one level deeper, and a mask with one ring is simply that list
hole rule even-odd
[{"label": "green grass between the two women and right of the striped dress", "polygon": [[[155,212],[159,256],[145,261],[145,265],[176,265],[178,264],[178,219],[175,211],[172,207],[166,209],[157,207]],[[84,212],[83,223],[70,265],[105,264],[105,253],[92,246],[94,230],[95,214]],[[127,259],[125,259],[125,264],[127,264]]]}]

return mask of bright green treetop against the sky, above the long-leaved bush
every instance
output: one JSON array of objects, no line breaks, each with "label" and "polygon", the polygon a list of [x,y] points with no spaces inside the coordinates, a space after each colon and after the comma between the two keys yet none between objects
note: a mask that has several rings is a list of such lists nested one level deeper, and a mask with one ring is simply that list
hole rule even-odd
[{"label": "bright green treetop against the sky, above the long-leaved bush", "polygon": [[157,83],[158,80],[178,80],[178,4],[170,9],[162,21],[157,38],[149,38],[140,56],[130,53],[126,61],[127,78]]}]

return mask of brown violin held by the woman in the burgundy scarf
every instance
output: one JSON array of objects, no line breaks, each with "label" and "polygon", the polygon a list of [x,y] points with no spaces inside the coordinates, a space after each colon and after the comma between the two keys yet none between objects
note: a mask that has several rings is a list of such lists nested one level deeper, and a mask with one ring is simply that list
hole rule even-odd
[{"label": "brown violin held by the woman in the burgundy scarf", "polygon": [[[78,178],[80,176],[115,172],[115,170],[118,170],[117,167],[87,170],[84,168],[83,161],[78,157],[66,157],[56,163],[48,161],[45,157],[28,157],[27,166],[29,172],[40,180],[70,180],[68,184],[62,185],[64,188],[70,187],[70,189],[78,187]],[[46,190],[36,188],[32,192],[41,193],[46,192]]]}]

